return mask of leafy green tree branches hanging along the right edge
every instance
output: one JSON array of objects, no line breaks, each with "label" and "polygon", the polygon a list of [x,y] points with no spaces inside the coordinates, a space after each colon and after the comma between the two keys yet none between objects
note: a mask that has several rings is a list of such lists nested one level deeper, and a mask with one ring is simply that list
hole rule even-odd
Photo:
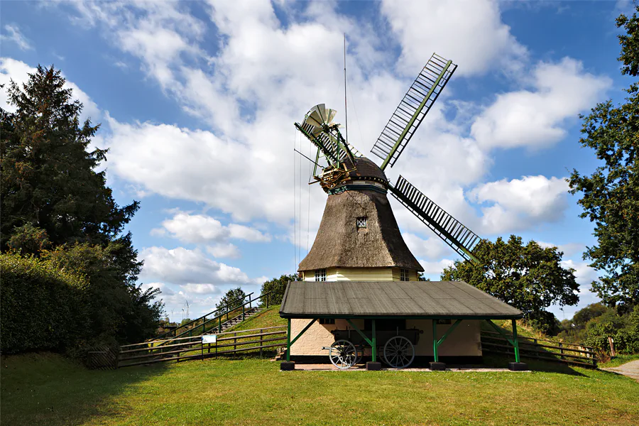
[{"label": "leafy green tree branches hanging along the right edge", "polygon": [[[639,75],[639,5],[633,16],[621,15],[617,26],[624,75]],[[584,259],[605,276],[592,289],[606,305],[631,310],[639,300],[639,84],[630,85],[626,102],[597,104],[584,120],[579,143],[592,148],[603,165],[590,176],[572,171],[570,192],[581,195],[581,217],[594,222],[597,244]]]}]

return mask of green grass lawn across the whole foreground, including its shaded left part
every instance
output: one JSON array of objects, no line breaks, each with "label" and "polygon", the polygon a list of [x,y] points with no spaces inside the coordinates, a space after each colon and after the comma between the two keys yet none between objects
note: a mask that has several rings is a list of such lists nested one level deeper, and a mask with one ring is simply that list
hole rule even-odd
[{"label": "green grass lawn across the whole foreground, including its shaded left part", "polygon": [[[506,359],[488,359],[504,366]],[[533,373],[279,371],[207,359],[88,371],[58,355],[1,360],[2,425],[637,425],[639,383],[530,362]]]}]

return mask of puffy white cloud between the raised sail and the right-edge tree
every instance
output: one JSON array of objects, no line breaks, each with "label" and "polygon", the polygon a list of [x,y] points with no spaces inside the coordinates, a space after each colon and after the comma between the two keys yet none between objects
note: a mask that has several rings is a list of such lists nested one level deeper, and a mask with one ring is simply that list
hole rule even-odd
[{"label": "puffy white cloud between the raised sail and the right-edge tree", "polygon": [[530,77],[532,90],[499,94],[476,118],[471,135],[483,148],[550,146],[566,136],[566,121],[601,100],[611,83],[584,72],[572,58],[540,62]]}]

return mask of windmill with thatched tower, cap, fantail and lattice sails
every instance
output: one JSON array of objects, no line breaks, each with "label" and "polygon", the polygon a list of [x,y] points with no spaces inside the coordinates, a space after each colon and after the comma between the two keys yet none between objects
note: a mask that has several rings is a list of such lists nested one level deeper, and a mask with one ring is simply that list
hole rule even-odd
[{"label": "windmill with thatched tower, cap, fantail and lattice sails", "polygon": [[[384,174],[387,167],[395,165],[456,69],[457,65],[452,61],[433,53],[371,149],[382,160],[379,166],[344,140],[339,124],[333,122],[336,111],[327,109],[324,104],[313,107],[301,124],[295,123],[295,127],[317,147],[313,175],[329,195],[313,247],[300,263],[302,273],[337,266],[395,266],[423,271],[400,235],[386,199],[389,191],[459,256],[477,261],[473,251],[481,241],[479,236],[402,175],[393,185]],[[320,163],[327,165],[318,171]],[[348,197],[334,197],[346,192]],[[372,214],[374,219],[371,229],[366,223],[367,214]],[[357,230],[356,234],[353,228]],[[371,231],[370,235],[368,231]]]}]

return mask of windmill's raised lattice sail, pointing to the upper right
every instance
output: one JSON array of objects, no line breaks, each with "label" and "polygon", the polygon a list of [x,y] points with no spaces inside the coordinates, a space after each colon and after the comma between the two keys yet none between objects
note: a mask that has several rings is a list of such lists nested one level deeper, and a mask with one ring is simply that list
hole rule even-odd
[{"label": "windmill's raised lattice sail, pointing to the upper right", "polygon": [[371,149],[383,160],[382,170],[388,164],[393,167],[456,69],[451,61],[432,54]]}]

